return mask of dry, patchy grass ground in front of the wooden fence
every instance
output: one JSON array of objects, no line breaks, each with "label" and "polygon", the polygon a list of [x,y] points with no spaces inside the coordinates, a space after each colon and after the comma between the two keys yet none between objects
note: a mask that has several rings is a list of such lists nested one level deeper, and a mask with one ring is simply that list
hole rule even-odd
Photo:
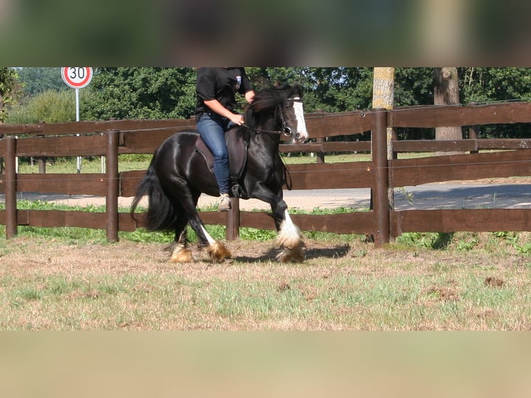
[{"label": "dry, patchy grass ground in front of the wooden fence", "polygon": [[4,243],[2,330],[531,327],[531,259],[500,248],[308,241],[306,261],[295,264],[277,263],[272,242],[234,241],[234,262],[212,265],[197,250],[194,263],[169,263],[159,244]]}]

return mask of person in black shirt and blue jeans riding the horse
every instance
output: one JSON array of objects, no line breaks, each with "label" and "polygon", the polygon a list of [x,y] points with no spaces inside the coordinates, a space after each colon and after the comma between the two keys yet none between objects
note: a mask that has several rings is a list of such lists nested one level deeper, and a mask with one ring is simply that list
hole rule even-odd
[{"label": "person in black shirt and blue jeans riding the horse", "polygon": [[199,68],[195,92],[195,120],[204,144],[214,155],[214,175],[220,190],[218,211],[231,208],[229,199],[229,157],[225,132],[232,123],[243,125],[243,116],[234,111],[236,93],[245,96],[248,103],[254,91],[243,68]]}]

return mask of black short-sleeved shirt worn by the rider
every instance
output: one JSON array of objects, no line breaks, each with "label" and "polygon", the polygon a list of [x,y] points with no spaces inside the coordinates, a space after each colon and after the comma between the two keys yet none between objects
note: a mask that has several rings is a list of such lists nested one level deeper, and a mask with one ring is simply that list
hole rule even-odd
[{"label": "black short-sleeved shirt worn by the rider", "polygon": [[195,117],[199,119],[211,109],[204,101],[216,99],[221,105],[234,112],[236,92],[245,94],[252,90],[251,83],[243,68],[199,68],[195,92],[198,101],[195,105]]}]

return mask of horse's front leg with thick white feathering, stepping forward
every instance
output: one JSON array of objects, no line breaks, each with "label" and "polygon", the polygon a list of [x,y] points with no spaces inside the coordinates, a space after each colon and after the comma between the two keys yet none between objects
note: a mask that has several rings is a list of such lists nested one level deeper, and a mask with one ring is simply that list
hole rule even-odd
[{"label": "horse's front leg with thick white feathering, stepping forward", "polygon": [[305,253],[302,235],[299,227],[291,220],[286,202],[280,196],[265,189],[255,193],[254,196],[264,202],[268,202],[271,206],[272,216],[275,218],[278,232],[276,243],[281,249],[277,255],[277,260],[281,262],[304,261]]}]

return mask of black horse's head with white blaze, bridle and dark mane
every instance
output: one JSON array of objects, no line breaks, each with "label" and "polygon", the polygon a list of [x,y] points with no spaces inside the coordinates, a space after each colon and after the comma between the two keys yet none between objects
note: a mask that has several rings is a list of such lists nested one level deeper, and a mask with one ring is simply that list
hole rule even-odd
[{"label": "black horse's head with white blaze, bridle and dark mane", "polygon": [[[265,128],[265,123],[272,125]],[[245,124],[257,131],[275,128],[277,132],[284,132],[294,143],[305,141],[308,131],[304,121],[301,87],[296,83],[275,85],[256,92],[247,108]]]}]

